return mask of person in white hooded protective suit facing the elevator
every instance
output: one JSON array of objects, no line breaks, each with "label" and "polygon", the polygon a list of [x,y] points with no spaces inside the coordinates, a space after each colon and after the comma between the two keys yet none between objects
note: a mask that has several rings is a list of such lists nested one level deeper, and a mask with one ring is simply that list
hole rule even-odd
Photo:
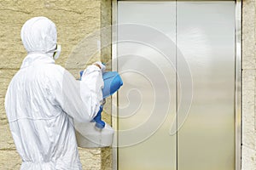
[{"label": "person in white hooded protective suit facing the elevator", "polygon": [[73,121],[88,123],[99,111],[105,66],[88,66],[77,81],[55,65],[61,48],[55,24],[45,17],[27,20],[20,36],[27,55],[5,96],[20,169],[82,169]]}]

